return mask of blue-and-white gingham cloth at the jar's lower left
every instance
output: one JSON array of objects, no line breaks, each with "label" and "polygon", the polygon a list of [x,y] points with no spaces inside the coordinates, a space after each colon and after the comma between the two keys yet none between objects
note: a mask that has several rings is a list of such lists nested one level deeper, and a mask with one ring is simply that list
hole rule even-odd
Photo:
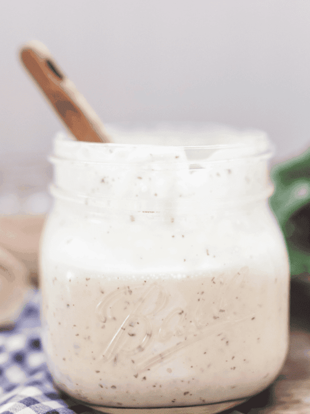
[{"label": "blue-and-white gingham cloth at the jar's lower left", "polygon": [[[40,293],[36,292],[14,329],[0,331],[0,414],[99,413],[69,398],[62,399],[55,390],[40,329]],[[242,414],[236,410],[225,413]]]}]

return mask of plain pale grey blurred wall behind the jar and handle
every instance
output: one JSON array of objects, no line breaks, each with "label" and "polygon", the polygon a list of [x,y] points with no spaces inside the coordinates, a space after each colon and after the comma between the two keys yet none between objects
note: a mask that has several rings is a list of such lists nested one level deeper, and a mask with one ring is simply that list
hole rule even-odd
[{"label": "plain pale grey blurred wall behind the jar and handle", "polygon": [[309,0],[13,0],[0,17],[1,159],[61,129],[17,59],[34,38],[105,122],[259,128],[277,159],[310,146]]}]

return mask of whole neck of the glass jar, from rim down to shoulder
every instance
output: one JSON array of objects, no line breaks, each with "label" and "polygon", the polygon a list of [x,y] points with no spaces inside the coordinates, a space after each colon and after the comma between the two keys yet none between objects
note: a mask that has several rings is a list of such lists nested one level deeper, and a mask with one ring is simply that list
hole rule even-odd
[{"label": "whole neck of the glass jar, from rim down to shoulder", "polygon": [[[186,146],[150,144],[151,135],[158,142],[173,143],[172,135],[162,130],[139,135],[110,129],[109,133],[115,143],[80,142],[64,133],[57,135],[50,157],[55,197],[93,207],[124,208],[126,200],[126,208],[142,212],[192,212],[206,205],[270,195],[267,160],[272,152],[264,132],[174,131],[173,137],[181,137],[184,143],[196,140],[197,145]],[[143,140],[148,143],[142,144]]]}]

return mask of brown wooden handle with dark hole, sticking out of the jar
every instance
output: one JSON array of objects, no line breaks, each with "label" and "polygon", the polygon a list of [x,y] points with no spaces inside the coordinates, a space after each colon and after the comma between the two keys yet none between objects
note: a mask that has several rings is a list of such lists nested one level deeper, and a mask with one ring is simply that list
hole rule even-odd
[{"label": "brown wooden handle with dark hole, sticking out of the jar", "polygon": [[78,141],[111,142],[99,117],[41,42],[32,41],[22,47],[20,59],[65,127]]}]

